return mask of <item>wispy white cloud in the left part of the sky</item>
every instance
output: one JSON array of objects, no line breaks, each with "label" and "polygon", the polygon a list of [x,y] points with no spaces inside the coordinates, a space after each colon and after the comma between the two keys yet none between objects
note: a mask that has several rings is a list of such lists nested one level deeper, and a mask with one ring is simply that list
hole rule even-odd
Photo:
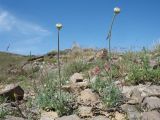
[{"label": "wispy white cloud in the left part of the sky", "polygon": [[23,54],[28,52],[26,48],[27,50],[38,50],[36,44],[43,42],[50,35],[50,31],[42,26],[21,20],[8,11],[0,9],[0,36],[1,39],[3,38],[3,42],[1,40],[0,42],[1,44],[12,42],[13,52],[18,50],[18,53]]}]

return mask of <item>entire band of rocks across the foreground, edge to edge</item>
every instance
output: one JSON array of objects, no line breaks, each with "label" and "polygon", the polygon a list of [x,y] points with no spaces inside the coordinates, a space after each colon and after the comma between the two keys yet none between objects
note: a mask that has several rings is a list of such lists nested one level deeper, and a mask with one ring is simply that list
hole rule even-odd
[{"label": "entire band of rocks across the foreground, edge to edge", "polygon": [[160,120],[160,86],[123,86],[121,91],[127,101],[119,107],[120,110],[107,111],[100,96],[90,89],[89,83],[82,74],[75,73],[68,84],[62,87],[76,96],[77,114],[74,115],[59,117],[56,112],[39,111],[38,108],[27,111],[23,104],[25,92],[18,84],[1,88],[0,96],[7,98],[8,102],[0,107],[14,111],[19,116],[7,115],[6,120],[25,120],[29,114],[32,119],[35,116],[40,120]]}]

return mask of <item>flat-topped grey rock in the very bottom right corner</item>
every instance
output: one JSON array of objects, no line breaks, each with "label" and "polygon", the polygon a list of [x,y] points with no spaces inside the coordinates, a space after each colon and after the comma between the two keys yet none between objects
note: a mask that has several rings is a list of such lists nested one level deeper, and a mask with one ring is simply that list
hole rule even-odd
[{"label": "flat-topped grey rock in the very bottom right corner", "polygon": [[144,112],[142,120],[160,120],[160,113],[157,111]]}]

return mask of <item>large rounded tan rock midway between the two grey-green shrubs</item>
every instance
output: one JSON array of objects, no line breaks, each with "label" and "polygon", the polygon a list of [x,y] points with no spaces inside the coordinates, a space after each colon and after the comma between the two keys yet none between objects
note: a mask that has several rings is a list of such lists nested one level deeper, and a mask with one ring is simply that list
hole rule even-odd
[{"label": "large rounded tan rock midway between the two grey-green shrubs", "polygon": [[91,89],[85,89],[81,91],[80,96],[78,96],[77,101],[81,105],[91,105],[93,106],[99,101],[99,96],[93,93]]}]

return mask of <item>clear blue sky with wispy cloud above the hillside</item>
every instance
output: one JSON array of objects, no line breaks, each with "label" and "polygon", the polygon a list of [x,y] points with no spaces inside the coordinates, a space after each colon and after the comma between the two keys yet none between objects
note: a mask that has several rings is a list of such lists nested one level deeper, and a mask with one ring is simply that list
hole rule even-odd
[{"label": "clear blue sky with wispy cloud above the hillside", "polygon": [[0,51],[43,54],[60,47],[107,47],[113,8],[120,7],[112,31],[113,49],[151,47],[160,41],[160,0],[0,0]]}]

